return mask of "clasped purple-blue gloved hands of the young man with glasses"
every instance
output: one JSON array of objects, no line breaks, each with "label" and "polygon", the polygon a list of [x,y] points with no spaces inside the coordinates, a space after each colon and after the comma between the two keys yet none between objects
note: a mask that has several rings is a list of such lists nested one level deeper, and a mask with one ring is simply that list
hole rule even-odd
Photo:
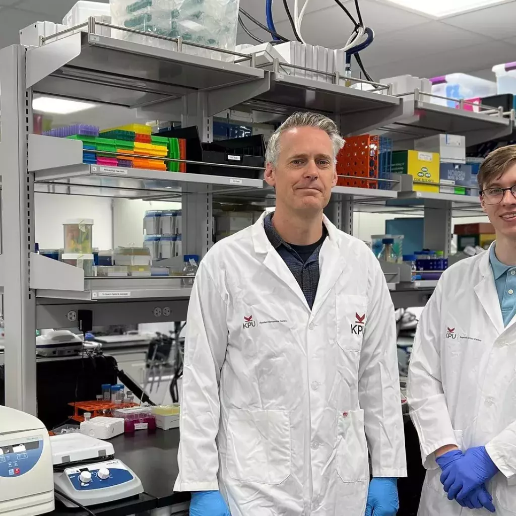
[{"label": "clasped purple-blue gloved hands of the young man with glasses", "polygon": [[436,461],[443,470],[441,483],[449,500],[456,498],[462,507],[470,509],[485,507],[491,512],[495,511],[485,482],[498,472],[498,468],[485,447],[470,448],[465,454],[460,450],[451,450]]}]

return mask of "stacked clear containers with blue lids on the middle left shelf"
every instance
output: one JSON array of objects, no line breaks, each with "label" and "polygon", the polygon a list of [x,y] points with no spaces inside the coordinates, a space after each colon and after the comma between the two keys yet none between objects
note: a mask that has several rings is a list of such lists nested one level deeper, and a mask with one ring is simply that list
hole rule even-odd
[{"label": "stacked clear containers with blue lids on the middle left shelf", "polygon": [[153,260],[182,256],[182,216],[180,209],[148,211],[143,219],[143,246]]}]

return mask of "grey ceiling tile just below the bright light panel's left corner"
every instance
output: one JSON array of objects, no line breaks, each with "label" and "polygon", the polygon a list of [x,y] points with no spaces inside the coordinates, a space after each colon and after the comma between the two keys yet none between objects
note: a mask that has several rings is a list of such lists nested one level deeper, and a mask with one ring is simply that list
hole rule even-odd
[{"label": "grey ceiling tile just below the bright light panel's left corner", "polygon": [[[361,56],[369,66],[411,58],[424,62],[428,54],[453,51],[492,41],[485,36],[432,21],[395,33],[380,34],[368,49],[361,52]],[[450,62],[449,59],[446,61]],[[460,67],[461,63],[455,62],[454,66]],[[396,74],[392,73],[389,76],[393,75]]]}]

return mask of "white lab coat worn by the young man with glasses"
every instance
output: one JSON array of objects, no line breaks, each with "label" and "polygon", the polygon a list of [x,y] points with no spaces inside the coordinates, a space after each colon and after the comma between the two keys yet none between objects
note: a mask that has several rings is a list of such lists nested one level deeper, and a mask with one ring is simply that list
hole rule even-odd
[{"label": "white lab coat worn by the young man with glasses", "polygon": [[516,514],[516,325],[504,328],[489,251],[443,273],[425,307],[407,398],[427,468],[419,516],[490,514],[448,501],[434,456],[486,446],[501,470],[488,490],[498,516]]}]

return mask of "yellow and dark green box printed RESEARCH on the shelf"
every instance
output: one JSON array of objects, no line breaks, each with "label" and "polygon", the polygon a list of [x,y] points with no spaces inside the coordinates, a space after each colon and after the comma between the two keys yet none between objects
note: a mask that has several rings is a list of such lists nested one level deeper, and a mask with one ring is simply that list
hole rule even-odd
[{"label": "yellow and dark green box printed RESEARCH on the shelf", "polygon": [[395,151],[392,172],[411,175],[414,191],[439,192],[439,154],[436,152]]}]

